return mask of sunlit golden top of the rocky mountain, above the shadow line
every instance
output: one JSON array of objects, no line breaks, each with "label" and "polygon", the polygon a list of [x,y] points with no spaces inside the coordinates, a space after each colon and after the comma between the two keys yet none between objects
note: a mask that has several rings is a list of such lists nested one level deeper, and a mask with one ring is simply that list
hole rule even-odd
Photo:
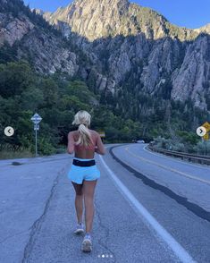
[{"label": "sunlit golden top of the rocky mountain, above the shadow line", "polygon": [[120,34],[136,36],[139,33],[153,39],[170,36],[185,40],[198,34],[194,30],[176,27],[161,14],[138,4],[130,4],[128,0],[77,0],[44,16],[52,24],[65,22],[72,32],[89,41]]}]

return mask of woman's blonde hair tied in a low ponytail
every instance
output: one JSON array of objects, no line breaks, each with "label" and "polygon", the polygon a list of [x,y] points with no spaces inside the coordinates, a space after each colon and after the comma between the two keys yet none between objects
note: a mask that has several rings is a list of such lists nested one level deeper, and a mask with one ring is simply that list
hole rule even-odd
[{"label": "woman's blonde hair tied in a low ponytail", "polygon": [[92,143],[90,132],[88,131],[88,126],[90,125],[91,115],[87,111],[79,111],[75,116],[72,124],[79,125],[79,139],[76,144],[81,144],[88,146]]}]

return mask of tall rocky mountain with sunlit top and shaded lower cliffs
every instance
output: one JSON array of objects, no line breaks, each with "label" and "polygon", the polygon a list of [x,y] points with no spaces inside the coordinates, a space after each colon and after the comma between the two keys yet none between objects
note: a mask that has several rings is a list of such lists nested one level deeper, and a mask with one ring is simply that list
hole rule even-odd
[{"label": "tall rocky mountain with sunlit top and shaded lower cliffs", "polygon": [[97,89],[114,94],[126,82],[210,109],[209,25],[180,28],[127,0],[76,0],[44,17],[96,64]]}]

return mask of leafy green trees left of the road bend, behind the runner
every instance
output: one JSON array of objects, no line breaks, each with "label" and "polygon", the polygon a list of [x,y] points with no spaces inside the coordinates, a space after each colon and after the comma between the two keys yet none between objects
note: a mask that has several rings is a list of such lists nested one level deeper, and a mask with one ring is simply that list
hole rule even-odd
[{"label": "leafy green trees left of the road bend, behind the runner", "polygon": [[91,127],[105,131],[107,141],[129,141],[141,134],[142,124],[114,115],[107,106],[99,105],[99,96],[83,81],[62,80],[57,74],[38,75],[26,62],[1,64],[0,80],[1,132],[8,125],[15,129],[13,138],[1,139],[2,149],[10,144],[14,148],[34,150],[30,118],[35,112],[43,118],[38,140],[43,154],[66,145],[68,132],[76,129],[71,125],[73,115],[80,109],[88,110],[93,118]]}]

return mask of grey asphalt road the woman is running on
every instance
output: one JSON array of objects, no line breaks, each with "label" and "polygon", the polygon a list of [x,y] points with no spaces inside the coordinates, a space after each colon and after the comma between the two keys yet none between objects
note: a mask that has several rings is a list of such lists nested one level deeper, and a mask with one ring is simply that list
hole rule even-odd
[{"label": "grey asphalt road the woman is running on", "polygon": [[0,262],[210,262],[210,168],[108,145],[96,156],[93,251],[74,236],[72,155],[0,161]]}]

